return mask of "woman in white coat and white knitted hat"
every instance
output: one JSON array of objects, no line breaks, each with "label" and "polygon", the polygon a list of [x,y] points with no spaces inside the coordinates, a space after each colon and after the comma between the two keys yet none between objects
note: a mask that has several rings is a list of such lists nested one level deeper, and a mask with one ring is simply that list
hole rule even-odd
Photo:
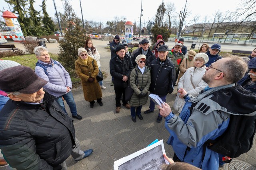
[{"label": "woman in white coat and white knitted hat", "polygon": [[[194,57],[194,67],[188,68],[184,75],[180,78],[178,89],[184,88],[188,92],[188,96],[196,97],[207,86],[207,83],[202,80],[202,76],[206,71],[205,63],[208,62],[208,55],[205,53],[198,53]],[[185,104],[184,96],[177,93],[176,100],[174,101],[174,109],[179,113]]]}]

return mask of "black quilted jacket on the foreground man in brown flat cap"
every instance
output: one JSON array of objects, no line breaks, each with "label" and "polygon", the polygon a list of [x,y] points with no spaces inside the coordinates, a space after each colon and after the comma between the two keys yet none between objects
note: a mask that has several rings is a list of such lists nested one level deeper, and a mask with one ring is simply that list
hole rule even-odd
[{"label": "black quilted jacket on the foreground man in brown flat cap", "polygon": [[0,112],[0,149],[18,170],[53,170],[70,156],[75,129],[55,97],[44,94],[43,103],[8,100]]}]

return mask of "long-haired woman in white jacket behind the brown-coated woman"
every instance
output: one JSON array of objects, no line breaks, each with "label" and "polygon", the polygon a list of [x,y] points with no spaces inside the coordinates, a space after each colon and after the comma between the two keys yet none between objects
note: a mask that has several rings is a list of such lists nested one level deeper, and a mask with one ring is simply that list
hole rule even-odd
[{"label": "long-haired woman in white jacket behind the brown-coated woman", "polygon": [[[85,45],[84,45],[84,48],[86,49],[88,55],[90,55],[94,60],[97,61],[97,64],[98,64],[98,67],[100,69],[100,54],[98,53],[96,47],[94,47],[92,45],[92,40],[91,39],[87,39],[85,41]],[[105,86],[103,86],[103,80],[99,82],[100,84],[100,87],[102,89],[106,89]]]}]

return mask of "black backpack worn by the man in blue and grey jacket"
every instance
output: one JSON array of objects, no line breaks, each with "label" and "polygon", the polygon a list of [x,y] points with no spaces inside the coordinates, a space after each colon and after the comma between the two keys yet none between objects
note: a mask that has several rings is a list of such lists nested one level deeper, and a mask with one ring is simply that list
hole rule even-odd
[{"label": "black backpack worn by the man in blue and grey jacket", "polygon": [[[193,103],[190,106],[190,115],[196,104]],[[206,108],[198,106],[197,109],[204,110]],[[229,163],[232,158],[237,158],[252,148],[255,133],[256,116],[230,114],[230,121],[226,131],[215,140],[209,139],[204,143],[203,158],[207,147],[218,154],[224,155],[223,162]]]}]

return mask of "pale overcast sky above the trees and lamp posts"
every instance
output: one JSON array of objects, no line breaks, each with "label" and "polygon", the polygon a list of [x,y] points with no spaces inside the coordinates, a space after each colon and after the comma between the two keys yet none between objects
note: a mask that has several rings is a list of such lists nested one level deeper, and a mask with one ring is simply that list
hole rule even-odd
[{"label": "pale overcast sky above the trees and lamp posts", "polygon": [[[42,4],[42,0],[35,0],[34,8],[38,11],[42,10],[39,5]],[[72,5],[76,14],[82,18],[80,1],[79,0],[68,0]],[[57,11],[63,13],[64,3],[61,0],[55,0]],[[186,3],[186,0],[170,1],[164,0],[164,3],[172,2],[175,4],[176,11],[181,11]],[[186,23],[193,18],[195,15],[200,15],[201,20],[204,16],[212,16],[217,10],[220,12],[226,12],[227,10],[234,11],[240,4],[241,0],[188,0],[187,9],[191,12],[189,18],[186,19]],[[162,3],[162,0],[142,0],[142,24],[147,23],[156,15],[156,10],[158,6]],[[8,4],[4,0],[0,0],[0,9],[9,10]],[[127,21],[130,20],[134,22],[136,20],[137,24],[140,22],[140,9],[141,0],[81,0],[83,17],[84,20],[93,20],[96,22],[101,21],[106,26],[107,21],[114,20],[115,16],[125,16]],[[53,5],[53,0],[46,1],[47,12],[50,17],[54,17],[55,9]],[[177,18],[178,19],[178,18]],[[186,25],[185,23],[185,25]],[[142,25],[144,26],[144,25]]]}]

